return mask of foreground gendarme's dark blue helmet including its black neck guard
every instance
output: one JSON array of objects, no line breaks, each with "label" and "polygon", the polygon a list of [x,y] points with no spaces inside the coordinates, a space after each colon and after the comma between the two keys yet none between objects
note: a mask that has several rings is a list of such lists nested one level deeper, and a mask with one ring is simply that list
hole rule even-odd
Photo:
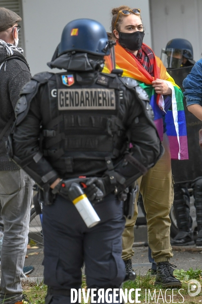
[{"label": "foreground gendarme's dark blue helmet including its black neck guard", "polygon": [[58,51],[47,65],[72,71],[102,71],[106,63],[111,72],[115,68],[115,44],[108,40],[101,23],[91,19],[73,20],[63,29]]}]

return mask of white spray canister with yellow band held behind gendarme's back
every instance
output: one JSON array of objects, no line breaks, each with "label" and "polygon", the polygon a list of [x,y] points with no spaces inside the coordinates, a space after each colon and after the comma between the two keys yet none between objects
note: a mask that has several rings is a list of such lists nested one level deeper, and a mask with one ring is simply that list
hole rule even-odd
[{"label": "white spray canister with yellow band held behind gendarme's back", "polygon": [[78,183],[73,182],[71,184],[68,189],[68,196],[88,228],[95,226],[100,221],[99,216]]}]

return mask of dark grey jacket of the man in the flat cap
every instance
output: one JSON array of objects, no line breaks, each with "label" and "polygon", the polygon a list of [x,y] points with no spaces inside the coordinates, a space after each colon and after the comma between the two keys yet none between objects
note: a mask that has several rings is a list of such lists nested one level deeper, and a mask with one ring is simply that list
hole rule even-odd
[{"label": "dark grey jacket of the man in the flat cap", "polygon": [[[18,51],[14,51],[13,56],[17,56],[26,61],[24,56]],[[6,58],[6,50],[0,50],[0,65]],[[9,59],[6,62],[6,66],[5,63],[2,66],[0,70],[0,134],[11,118],[12,112],[14,111],[19,98],[21,88],[30,80],[30,78],[31,74],[28,66],[19,59]],[[5,147],[12,125],[13,124],[11,124],[10,128],[0,141],[0,171],[18,169],[18,166],[14,164],[13,161],[9,160]]]}]

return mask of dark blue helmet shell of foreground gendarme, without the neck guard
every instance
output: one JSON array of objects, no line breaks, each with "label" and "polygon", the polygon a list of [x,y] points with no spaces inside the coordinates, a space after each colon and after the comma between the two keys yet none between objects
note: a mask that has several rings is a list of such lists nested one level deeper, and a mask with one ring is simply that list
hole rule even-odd
[{"label": "dark blue helmet shell of foreground gendarme, without the neck guard", "polygon": [[109,49],[107,32],[101,23],[76,19],[63,29],[58,56],[72,51],[105,56],[110,54]]}]

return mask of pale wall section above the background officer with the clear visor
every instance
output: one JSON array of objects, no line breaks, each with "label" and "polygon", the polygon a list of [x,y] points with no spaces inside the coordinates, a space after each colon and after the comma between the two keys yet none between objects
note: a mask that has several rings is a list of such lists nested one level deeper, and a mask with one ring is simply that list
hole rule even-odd
[{"label": "pale wall section above the background officer with the clear visor", "polygon": [[201,0],[150,0],[153,48],[157,56],[174,38],[187,39],[193,47],[194,60],[202,51]]}]

